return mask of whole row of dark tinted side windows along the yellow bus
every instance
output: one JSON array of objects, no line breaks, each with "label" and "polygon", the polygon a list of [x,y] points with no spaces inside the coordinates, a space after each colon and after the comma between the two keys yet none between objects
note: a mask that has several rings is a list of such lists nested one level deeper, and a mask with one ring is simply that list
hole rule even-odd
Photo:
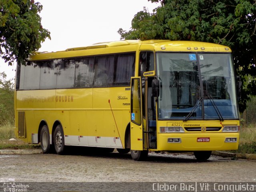
[{"label": "whole row of dark tinted side windows along the yellow bus", "polygon": [[16,89],[129,86],[134,68],[135,52],[27,62],[17,66]]}]

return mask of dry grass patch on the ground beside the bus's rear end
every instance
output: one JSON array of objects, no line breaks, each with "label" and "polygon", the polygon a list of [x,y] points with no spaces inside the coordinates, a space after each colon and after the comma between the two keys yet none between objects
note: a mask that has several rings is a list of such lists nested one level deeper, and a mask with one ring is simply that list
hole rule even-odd
[{"label": "dry grass patch on the ground beside the bus's rear end", "polygon": [[[10,140],[14,138],[15,140]],[[1,149],[40,149],[40,144],[28,144],[15,137],[14,126],[10,122],[0,126],[0,150]]]}]

